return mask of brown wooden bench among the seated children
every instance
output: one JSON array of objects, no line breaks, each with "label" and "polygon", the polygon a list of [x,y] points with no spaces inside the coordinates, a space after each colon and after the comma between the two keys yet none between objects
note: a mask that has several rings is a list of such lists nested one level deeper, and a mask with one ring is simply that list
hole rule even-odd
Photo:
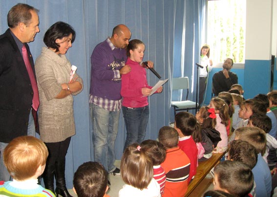
[{"label": "brown wooden bench among the seated children", "polygon": [[[185,197],[189,197],[193,190],[199,185],[199,183],[209,174],[213,167],[220,161],[225,153],[213,153],[212,157],[206,161],[198,162],[196,169],[196,175],[188,186],[188,191]],[[207,184],[207,183],[206,183]],[[195,195],[192,195],[195,197]]]}]

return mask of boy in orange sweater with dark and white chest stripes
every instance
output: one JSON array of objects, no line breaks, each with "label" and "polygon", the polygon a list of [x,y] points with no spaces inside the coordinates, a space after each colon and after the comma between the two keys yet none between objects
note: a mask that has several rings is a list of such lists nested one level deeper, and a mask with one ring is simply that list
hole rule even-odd
[{"label": "boy in orange sweater with dark and white chest stripes", "polygon": [[163,197],[184,197],[188,190],[190,159],[178,147],[179,136],[174,128],[162,127],[158,138],[167,152],[166,160],[161,164],[167,177]]}]

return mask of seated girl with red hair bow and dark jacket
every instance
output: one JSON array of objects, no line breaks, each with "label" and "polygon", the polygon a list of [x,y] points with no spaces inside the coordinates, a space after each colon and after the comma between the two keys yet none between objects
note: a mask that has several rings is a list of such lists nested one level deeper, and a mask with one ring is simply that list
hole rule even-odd
[{"label": "seated girl with red hair bow and dark jacket", "polygon": [[221,140],[220,133],[214,129],[216,126],[216,115],[214,109],[208,107],[201,107],[195,115],[197,121],[201,124],[202,141],[205,153],[202,158],[198,157],[198,161],[205,161],[213,154],[213,149]]}]

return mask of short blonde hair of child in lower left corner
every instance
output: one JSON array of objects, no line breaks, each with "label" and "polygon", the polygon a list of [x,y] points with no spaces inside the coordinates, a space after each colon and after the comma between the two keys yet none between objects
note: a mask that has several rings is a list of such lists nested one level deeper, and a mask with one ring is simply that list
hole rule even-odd
[{"label": "short blonde hair of child in lower left corner", "polygon": [[34,176],[45,165],[48,150],[43,141],[33,136],[14,138],[5,148],[3,161],[10,175],[18,180]]}]

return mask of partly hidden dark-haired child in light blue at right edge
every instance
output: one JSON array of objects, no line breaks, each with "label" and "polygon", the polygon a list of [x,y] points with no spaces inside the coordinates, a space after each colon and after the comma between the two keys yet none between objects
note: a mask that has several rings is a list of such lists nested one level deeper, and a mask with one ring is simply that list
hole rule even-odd
[{"label": "partly hidden dark-haired child in light blue at right edge", "polygon": [[276,138],[277,137],[277,119],[276,119],[275,114],[269,109],[269,100],[267,98],[267,95],[265,95],[265,94],[258,94],[258,95],[256,95],[254,97],[254,99],[259,99],[266,106],[266,115],[268,117],[270,117],[270,119],[271,119],[271,125],[272,125],[272,128],[271,128],[271,130],[268,133],[271,136],[273,136],[274,138]]}]

